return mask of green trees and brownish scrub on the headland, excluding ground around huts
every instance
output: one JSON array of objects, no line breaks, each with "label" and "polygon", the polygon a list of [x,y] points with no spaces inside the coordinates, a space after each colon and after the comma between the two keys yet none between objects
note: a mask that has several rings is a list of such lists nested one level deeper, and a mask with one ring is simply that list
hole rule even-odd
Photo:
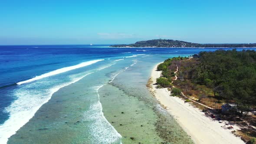
[{"label": "green trees and brownish scrub on the headland, excluding ground around huts", "polygon": [[[169,81],[177,66],[179,80],[174,82],[192,95],[195,90],[198,99],[213,95],[218,100],[234,102],[242,111],[249,111],[256,105],[256,52],[254,50],[217,50],[215,52],[200,52],[200,58],[183,60],[177,57],[167,59],[158,65],[163,71],[162,76]],[[183,81],[181,81],[181,79]],[[186,81],[189,80],[189,81]]]}]

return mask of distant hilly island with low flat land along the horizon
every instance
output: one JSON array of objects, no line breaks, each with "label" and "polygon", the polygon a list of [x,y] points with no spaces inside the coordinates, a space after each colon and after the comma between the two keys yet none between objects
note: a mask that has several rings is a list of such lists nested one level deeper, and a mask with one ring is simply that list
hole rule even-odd
[{"label": "distant hilly island with low flat land along the horizon", "polygon": [[238,43],[238,44],[200,44],[200,43],[190,43],[180,40],[172,39],[152,39],[147,41],[139,41],[134,44],[122,44],[122,45],[112,45],[111,47],[256,47],[256,43]]}]

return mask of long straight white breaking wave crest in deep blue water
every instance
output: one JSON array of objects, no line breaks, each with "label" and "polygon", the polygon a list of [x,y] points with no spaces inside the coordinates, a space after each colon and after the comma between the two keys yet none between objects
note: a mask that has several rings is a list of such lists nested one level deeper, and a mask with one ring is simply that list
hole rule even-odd
[{"label": "long straight white breaking wave crest in deep blue water", "polygon": [[32,79],[28,79],[26,81],[18,82],[17,84],[21,85],[21,84],[24,84],[24,83],[33,82],[33,81],[43,79],[43,78],[46,78],[46,77],[49,77],[49,76],[52,76],[52,75],[60,74],[62,72],[67,72],[67,71],[70,71],[70,70],[73,70],[73,69],[78,69],[78,68],[81,68],[81,67],[84,67],[84,66],[87,66],[87,65],[92,65],[93,63],[96,63],[96,62],[99,62],[99,61],[102,61],[102,60],[104,60],[104,59],[97,59],[97,60],[92,60],[92,61],[88,61],[88,62],[82,62],[78,65],[73,65],[73,66],[69,66],[69,67],[65,67],[65,68],[61,68],[61,69],[56,69],[52,72],[48,72],[48,73],[45,73],[43,75],[36,76]]}]

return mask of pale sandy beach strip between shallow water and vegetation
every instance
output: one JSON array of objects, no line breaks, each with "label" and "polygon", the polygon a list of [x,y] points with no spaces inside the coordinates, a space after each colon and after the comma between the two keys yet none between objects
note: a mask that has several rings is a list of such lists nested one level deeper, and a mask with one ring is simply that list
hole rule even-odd
[{"label": "pale sandy beach strip between shallow water and vegetation", "polygon": [[170,96],[171,93],[167,88],[156,88],[153,84],[161,75],[156,69],[157,65],[151,72],[152,92],[195,144],[245,144],[240,137],[231,133],[233,130],[221,128],[223,124],[207,118],[198,108],[194,108],[189,103],[184,104],[181,98]]}]

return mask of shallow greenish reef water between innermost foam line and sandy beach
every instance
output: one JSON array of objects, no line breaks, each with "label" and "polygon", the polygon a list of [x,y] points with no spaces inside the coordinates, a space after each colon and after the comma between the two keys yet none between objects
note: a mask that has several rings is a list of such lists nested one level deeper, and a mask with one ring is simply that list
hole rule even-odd
[{"label": "shallow greenish reef water between innermost foam line and sandy beach", "polygon": [[124,144],[194,144],[148,91],[152,68],[151,62],[139,61],[99,89],[105,118]]}]

